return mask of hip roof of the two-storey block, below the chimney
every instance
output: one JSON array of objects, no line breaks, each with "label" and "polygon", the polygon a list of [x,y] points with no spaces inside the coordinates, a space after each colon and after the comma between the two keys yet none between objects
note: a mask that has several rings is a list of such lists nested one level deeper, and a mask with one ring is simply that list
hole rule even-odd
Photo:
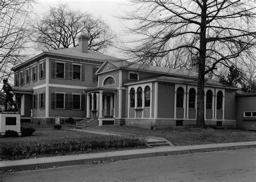
[{"label": "hip roof of the two-storey block, below the chimney", "polygon": [[14,68],[12,68],[12,70],[15,70],[23,65],[29,64],[30,62],[35,61],[37,59],[42,59],[44,57],[48,57],[49,55],[66,57],[66,58],[82,59],[84,61],[99,61],[99,62],[104,62],[106,59],[117,59],[117,58],[111,57],[109,55],[105,55],[105,54],[90,51],[90,50],[87,53],[80,52],[79,47],[77,46],[77,47],[61,48],[59,50],[43,52],[25,62],[23,62],[22,64],[15,66]]}]

